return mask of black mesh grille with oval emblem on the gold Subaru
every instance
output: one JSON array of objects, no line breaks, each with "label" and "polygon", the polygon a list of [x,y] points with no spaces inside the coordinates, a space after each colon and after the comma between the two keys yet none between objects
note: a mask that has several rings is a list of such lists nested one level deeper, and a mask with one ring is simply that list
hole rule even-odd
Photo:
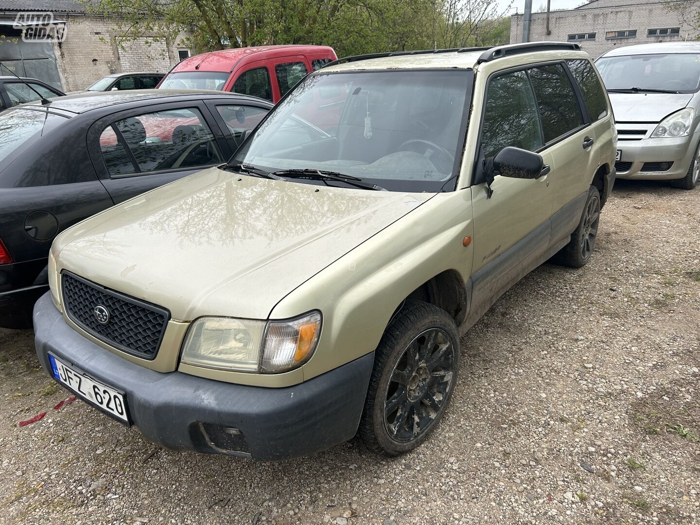
[{"label": "black mesh grille with oval emblem on the gold Subaru", "polygon": [[[144,359],[154,359],[170,313],[155,304],[109,290],[70,272],[62,272],[63,304],[73,323],[93,337]],[[109,321],[97,321],[94,309],[101,304]]]}]

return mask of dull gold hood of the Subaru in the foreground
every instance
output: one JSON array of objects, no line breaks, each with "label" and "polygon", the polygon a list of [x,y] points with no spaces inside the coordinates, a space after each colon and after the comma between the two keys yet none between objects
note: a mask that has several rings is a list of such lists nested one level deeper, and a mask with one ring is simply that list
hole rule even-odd
[{"label": "dull gold hood of the Subaru in the foreground", "polygon": [[291,290],[432,196],[211,168],[78,223],[52,251],[59,270],[174,319],[267,318]]}]

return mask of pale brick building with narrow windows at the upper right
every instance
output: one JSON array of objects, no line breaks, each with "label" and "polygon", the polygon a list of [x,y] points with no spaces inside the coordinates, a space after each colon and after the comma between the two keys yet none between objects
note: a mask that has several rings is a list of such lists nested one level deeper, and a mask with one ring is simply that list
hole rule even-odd
[{"label": "pale brick building with narrow windows at the upper right", "polygon": [[[576,42],[597,58],[618,45],[695,40],[699,35],[686,20],[699,10],[700,0],[592,0],[551,11],[548,30],[547,13],[532,13],[529,41]],[[523,16],[510,19],[511,43],[523,41]]]}]

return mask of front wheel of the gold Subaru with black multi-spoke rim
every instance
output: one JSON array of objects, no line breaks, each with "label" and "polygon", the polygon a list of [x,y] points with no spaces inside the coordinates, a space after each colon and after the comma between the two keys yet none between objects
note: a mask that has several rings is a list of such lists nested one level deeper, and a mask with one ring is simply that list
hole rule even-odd
[{"label": "front wheel of the gold Subaru with black multi-spoke rim", "polygon": [[358,428],[367,448],[398,456],[418,447],[442,418],[458,369],[454,319],[433,304],[406,302],[374,352]]}]

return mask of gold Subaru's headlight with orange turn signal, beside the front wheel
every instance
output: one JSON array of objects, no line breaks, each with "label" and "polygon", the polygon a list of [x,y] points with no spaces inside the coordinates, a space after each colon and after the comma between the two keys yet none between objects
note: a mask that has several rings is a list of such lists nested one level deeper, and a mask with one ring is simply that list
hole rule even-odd
[{"label": "gold Subaru's headlight with orange turn signal, beside the front wheel", "polygon": [[187,332],[182,362],[235,372],[287,372],[311,357],[320,334],[318,311],[285,321],[202,317]]}]

